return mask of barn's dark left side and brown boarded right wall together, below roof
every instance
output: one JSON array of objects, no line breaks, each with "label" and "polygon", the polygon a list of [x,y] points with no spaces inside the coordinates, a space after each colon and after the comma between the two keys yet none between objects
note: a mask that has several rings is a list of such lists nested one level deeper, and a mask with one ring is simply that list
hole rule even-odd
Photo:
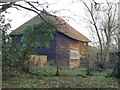
[{"label": "barn's dark left side and brown boarded right wall together, below roof", "polygon": [[[21,36],[14,38],[14,43],[17,45],[21,40]],[[60,32],[57,32],[55,38],[50,41],[50,48],[41,48],[37,47],[35,49],[36,55],[46,55],[48,60],[57,60],[63,66],[73,65],[76,67],[79,66],[80,59],[71,60],[70,59],[70,50],[77,50],[82,54],[87,53],[87,45],[84,45],[84,42],[74,40]],[[72,66],[72,67],[73,67]]]}]

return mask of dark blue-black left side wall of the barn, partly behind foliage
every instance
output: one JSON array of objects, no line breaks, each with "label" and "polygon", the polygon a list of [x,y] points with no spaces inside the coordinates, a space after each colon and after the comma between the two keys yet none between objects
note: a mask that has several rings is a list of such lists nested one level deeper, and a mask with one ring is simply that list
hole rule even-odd
[{"label": "dark blue-black left side wall of the barn, partly behind foliage", "polygon": [[[12,36],[12,41],[14,47],[17,45],[23,45],[21,41],[22,35],[14,35]],[[56,39],[50,41],[50,48],[41,48],[37,47],[35,49],[36,55],[47,55],[48,60],[56,60]]]}]

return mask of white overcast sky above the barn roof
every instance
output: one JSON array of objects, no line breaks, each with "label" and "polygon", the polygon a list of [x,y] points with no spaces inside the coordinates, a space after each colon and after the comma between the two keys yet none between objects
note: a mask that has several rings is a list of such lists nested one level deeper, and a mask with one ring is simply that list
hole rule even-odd
[{"label": "white overcast sky above the barn roof", "polygon": [[[29,0],[28,0],[29,1]],[[30,0],[32,1],[32,0]],[[35,0],[33,0],[35,1]],[[55,13],[57,16],[60,17],[71,17],[71,18],[64,18],[69,19],[66,20],[73,28],[75,28],[77,31],[88,37],[90,40],[90,30],[87,28],[87,25],[85,24],[83,17],[86,17],[85,14],[85,8],[84,5],[79,0],[38,0],[40,3],[48,2],[50,5],[48,5],[48,8],[46,8],[47,4],[45,4],[43,7],[49,11],[58,11]],[[88,2],[90,0],[87,0]],[[96,2],[104,2],[105,0],[96,0]],[[22,5],[25,5],[23,2]],[[41,9],[41,8],[40,8]],[[15,30],[17,27],[25,23],[26,21],[30,20],[34,16],[36,16],[35,13],[27,11],[27,10],[16,10],[15,8],[11,8],[7,10],[10,12],[6,15],[6,18],[12,19],[11,26],[12,30]]]}]

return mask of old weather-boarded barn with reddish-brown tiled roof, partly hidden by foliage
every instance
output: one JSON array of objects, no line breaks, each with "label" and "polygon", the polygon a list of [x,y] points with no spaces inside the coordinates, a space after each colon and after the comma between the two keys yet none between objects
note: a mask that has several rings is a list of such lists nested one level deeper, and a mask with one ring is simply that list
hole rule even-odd
[{"label": "old weather-boarded barn with reddish-brown tiled roof, partly hidden by foliage", "polygon": [[[46,12],[41,14],[43,17],[49,17],[55,23],[59,23],[58,30],[55,34],[53,40],[50,41],[50,48],[41,48],[36,47],[35,52],[38,55],[46,55],[49,60],[57,60],[63,66],[68,66],[70,68],[80,66],[80,58],[87,54],[88,42],[90,40],[84,35],[72,28],[68,23],[63,19],[49,15]],[[41,19],[39,16],[35,16],[28,22],[24,23],[22,26],[18,27],[11,33],[11,36],[14,38],[14,43],[18,44],[24,28],[33,23],[39,23]]]}]

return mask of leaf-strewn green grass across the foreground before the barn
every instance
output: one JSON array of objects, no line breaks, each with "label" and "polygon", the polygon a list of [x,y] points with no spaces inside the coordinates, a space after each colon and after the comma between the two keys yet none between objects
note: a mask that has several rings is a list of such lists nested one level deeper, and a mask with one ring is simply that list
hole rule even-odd
[{"label": "leaf-strewn green grass across the foreground before the barn", "polygon": [[20,77],[9,77],[3,80],[3,88],[118,88],[118,80],[105,77],[110,70],[93,72],[92,76],[85,75],[85,69],[64,69],[60,76],[54,76],[56,69],[43,67],[38,69],[38,76],[23,74]]}]

